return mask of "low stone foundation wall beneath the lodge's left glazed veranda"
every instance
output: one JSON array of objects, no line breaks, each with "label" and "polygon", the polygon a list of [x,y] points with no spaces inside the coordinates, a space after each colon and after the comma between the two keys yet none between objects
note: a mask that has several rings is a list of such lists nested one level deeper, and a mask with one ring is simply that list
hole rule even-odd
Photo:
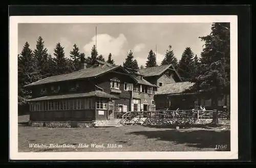
[{"label": "low stone foundation wall beneath the lodge's left glazed veranda", "polygon": [[82,121],[41,121],[41,122],[34,122],[29,121],[29,126],[32,127],[50,127],[50,128],[89,128],[94,127],[94,122],[82,122]]}]

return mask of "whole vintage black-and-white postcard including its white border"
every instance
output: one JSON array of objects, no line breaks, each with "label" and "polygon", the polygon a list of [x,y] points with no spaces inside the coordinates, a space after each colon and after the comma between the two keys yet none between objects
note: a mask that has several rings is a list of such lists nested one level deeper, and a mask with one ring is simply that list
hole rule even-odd
[{"label": "whole vintage black-and-white postcard including its white border", "polygon": [[238,159],[235,15],[10,16],[10,159]]}]

